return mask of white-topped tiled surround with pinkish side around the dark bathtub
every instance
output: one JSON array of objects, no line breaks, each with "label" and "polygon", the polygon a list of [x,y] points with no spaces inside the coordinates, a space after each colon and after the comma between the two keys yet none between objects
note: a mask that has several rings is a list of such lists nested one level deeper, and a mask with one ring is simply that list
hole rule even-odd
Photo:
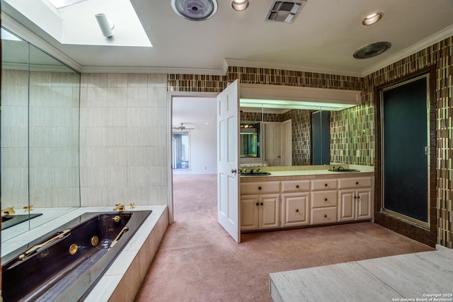
[{"label": "white-topped tiled surround with pinkish side around the dark bathtub", "polygon": [[[112,207],[80,207],[27,233],[6,240],[2,243],[1,257],[13,252],[22,245],[59,228],[67,221],[86,212],[112,211]],[[134,301],[147,269],[168,226],[168,208],[166,206],[139,206],[127,211],[151,210],[137,233],[110,265],[103,277],[84,301]]]}]

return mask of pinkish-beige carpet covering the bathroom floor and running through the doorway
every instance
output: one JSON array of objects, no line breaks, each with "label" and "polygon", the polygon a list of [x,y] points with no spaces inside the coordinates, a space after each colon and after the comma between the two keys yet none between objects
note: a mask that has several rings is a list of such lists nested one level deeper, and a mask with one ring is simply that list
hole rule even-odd
[{"label": "pinkish-beige carpet covering the bathroom floor and running through the doorway", "polygon": [[136,301],[272,301],[269,273],[432,250],[370,222],[246,233],[217,223],[217,176],[173,177],[175,223]]}]

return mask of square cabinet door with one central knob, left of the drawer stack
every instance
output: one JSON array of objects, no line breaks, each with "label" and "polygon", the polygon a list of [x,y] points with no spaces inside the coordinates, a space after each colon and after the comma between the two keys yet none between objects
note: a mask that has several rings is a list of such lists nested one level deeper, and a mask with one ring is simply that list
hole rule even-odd
[{"label": "square cabinet door with one central knob, left of the drawer stack", "polygon": [[282,227],[309,224],[309,192],[282,194]]}]

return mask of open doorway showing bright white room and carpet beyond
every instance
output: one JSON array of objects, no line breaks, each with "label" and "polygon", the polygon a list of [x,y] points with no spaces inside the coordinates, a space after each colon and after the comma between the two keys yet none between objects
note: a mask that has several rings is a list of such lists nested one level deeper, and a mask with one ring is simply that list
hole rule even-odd
[{"label": "open doorway showing bright white room and carpet beyond", "polygon": [[217,99],[196,93],[170,98],[171,221],[199,219],[217,213]]}]

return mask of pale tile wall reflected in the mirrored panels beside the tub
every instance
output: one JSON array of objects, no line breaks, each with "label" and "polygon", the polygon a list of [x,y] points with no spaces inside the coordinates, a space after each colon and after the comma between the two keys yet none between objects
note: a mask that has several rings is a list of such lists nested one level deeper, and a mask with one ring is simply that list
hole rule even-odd
[{"label": "pale tile wall reflected in the mirrored panels beside the tub", "polygon": [[2,207],[78,207],[79,75],[1,76]]}]

